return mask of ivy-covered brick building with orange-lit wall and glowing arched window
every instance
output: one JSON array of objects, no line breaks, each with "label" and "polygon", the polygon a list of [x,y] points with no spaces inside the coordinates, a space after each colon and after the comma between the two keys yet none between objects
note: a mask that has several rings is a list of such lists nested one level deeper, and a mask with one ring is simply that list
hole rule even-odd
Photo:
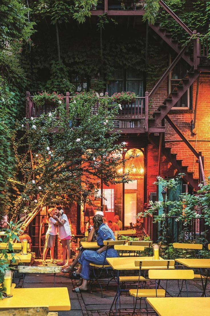
[{"label": "ivy-covered brick building with orange-lit wall and glowing arched window", "polygon": [[[148,80],[151,74],[147,74],[145,67],[144,71],[141,71],[139,65],[136,68],[130,65],[128,67],[116,65],[112,78],[106,80],[106,88],[103,90],[104,93],[107,91],[110,95],[120,91],[133,91],[139,95],[131,104],[123,105],[122,111],[119,111],[115,121],[116,128],[122,131],[119,141],[126,143],[127,153],[125,155],[135,157],[131,175],[133,182],[110,187],[104,186],[104,199],[99,199],[96,205],[103,206],[107,219],[113,219],[114,215],[119,215],[124,228],[129,228],[130,223],[135,225],[134,216],[138,212],[144,211],[151,199],[156,200],[158,197],[157,186],[154,185],[158,175],[164,178],[184,173],[181,191],[193,192],[198,190],[198,184],[204,181],[204,178],[207,179],[210,171],[208,43],[203,42],[199,33],[190,30],[162,1],[160,4],[168,12],[170,18],[182,27],[183,33],[190,38],[189,43],[185,44],[183,48],[172,39],[172,34],[167,33],[160,23],[150,25],[149,30],[147,29],[145,23],[142,22],[142,15],[145,12],[144,1],[139,2],[140,9],[132,6],[132,10],[128,7],[120,10],[117,9],[117,5],[116,7],[114,4],[109,5],[109,2],[107,3],[105,0],[92,11],[89,26],[86,25],[86,29],[75,28],[75,32],[70,35],[73,43],[70,53],[78,52],[79,54],[82,47],[87,51],[90,59],[94,58],[94,47],[99,51],[101,49],[94,35],[96,32],[94,18],[105,13],[107,16],[118,17],[117,31],[113,28],[113,34],[116,37],[117,34],[122,36],[119,33],[119,27],[122,27],[126,42],[127,35],[132,29],[132,34],[130,33],[129,36],[133,40],[139,34],[145,40],[145,46],[148,46],[149,39],[149,42],[152,41],[160,51],[162,72],[159,74],[160,79],[156,80],[154,84]],[[79,36],[80,40],[77,40]],[[103,35],[105,43],[109,41],[110,36],[109,32]],[[145,54],[149,54],[148,58],[151,62],[150,53],[145,52]],[[132,59],[132,50],[130,58]],[[158,63],[158,61],[156,60],[154,63]],[[82,70],[83,75],[77,75],[76,79],[72,75],[72,83],[75,84],[77,91],[88,90],[91,80],[96,80],[101,76],[104,79],[102,66],[98,70],[99,73],[93,70],[91,78],[84,75],[84,70]],[[79,67],[78,64],[78,69]],[[33,101],[28,94],[26,115],[30,117],[32,111]],[[81,235],[84,213],[80,206],[66,205],[65,212],[71,221],[73,233]],[[88,212],[90,212],[89,215],[93,213]],[[40,229],[40,222],[42,222],[40,214],[29,228],[31,233],[32,226],[36,226],[36,223],[37,232]],[[78,218],[81,221],[78,221]],[[152,240],[157,239],[157,230],[155,225],[152,225],[152,218],[146,218],[143,227]],[[202,229],[202,225],[197,226],[198,233]],[[36,235],[35,245],[38,235],[37,233],[33,235]],[[177,235],[171,236],[171,241],[177,240],[177,237]],[[58,256],[60,256],[60,252],[58,252]]]}]

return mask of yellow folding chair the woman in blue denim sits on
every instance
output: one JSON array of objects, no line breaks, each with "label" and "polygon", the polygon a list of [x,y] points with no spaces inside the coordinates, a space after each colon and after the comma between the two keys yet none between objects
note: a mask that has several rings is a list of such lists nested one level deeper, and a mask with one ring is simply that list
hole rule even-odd
[{"label": "yellow folding chair the woman in blue denim sits on", "polygon": [[[99,282],[99,279],[100,279],[100,276],[101,274],[105,271],[106,272],[106,275],[108,276],[108,271],[111,271],[112,270],[112,267],[111,265],[109,264],[105,264],[105,261],[106,261],[106,254],[107,254],[107,250],[109,248],[109,246],[115,246],[115,245],[125,245],[126,243],[128,242],[128,240],[104,240],[104,245],[106,246],[106,253],[105,253],[105,259],[104,259],[104,262],[103,264],[94,264],[94,263],[90,263],[90,266],[92,266],[93,268],[93,274],[94,274],[94,278],[95,278],[95,281],[97,281],[99,283],[99,286],[101,288],[101,297],[103,297],[103,289],[102,289],[102,286],[101,286],[101,283]],[[98,273],[99,272],[99,273]],[[97,275],[98,274],[98,275]],[[113,274],[111,273],[111,280],[114,279],[115,280],[115,277],[113,276]],[[107,287],[110,283],[109,278],[108,278],[108,284],[107,284]],[[91,282],[91,284],[93,283],[93,280]]]}]

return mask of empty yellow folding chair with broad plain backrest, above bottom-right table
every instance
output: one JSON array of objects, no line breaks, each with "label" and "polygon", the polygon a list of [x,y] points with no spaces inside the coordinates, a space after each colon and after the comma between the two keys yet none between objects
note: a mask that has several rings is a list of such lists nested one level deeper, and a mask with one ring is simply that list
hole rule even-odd
[{"label": "empty yellow folding chair with broad plain backrest, above bottom-right table", "polygon": [[[178,288],[179,294],[177,297],[182,296],[181,291],[183,288],[183,283],[185,281],[187,297],[188,297],[188,288],[187,288],[187,280],[194,279],[194,271],[193,270],[149,270],[148,271],[149,279],[155,280],[155,288],[157,289],[157,280],[166,280],[166,288],[165,291],[167,293],[167,282],[168,280],[177,280],[178,281]],[[181,289],[179,287],[179,280],[182,280]]]}]

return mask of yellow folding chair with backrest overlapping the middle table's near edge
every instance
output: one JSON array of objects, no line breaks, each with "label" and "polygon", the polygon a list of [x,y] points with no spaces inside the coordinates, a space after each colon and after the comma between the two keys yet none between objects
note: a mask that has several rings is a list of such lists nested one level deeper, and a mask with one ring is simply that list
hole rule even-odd
[{"label": "yellow folding chair with backrest overlapping the middle table's near edge", "polygon": [[[147,297],[165,297],[166,291],[164,289],[142,289],[141,286],[141,274],[142,270],[155,270],[155,269],[174,269],[174,260],[135,260],[135,266],[139,267],[139,279],[137,289],[130,289],[129,294],[133,296],[133,313],[135,313],[137,301],[140,300],[140,308],[141,308],[141,300],[143,299],[146,304],[146,310],[148,313],[146,298]],[[164,270],[165,271],[165,270]],[[135,300],[135,303],[134,303]]]}]

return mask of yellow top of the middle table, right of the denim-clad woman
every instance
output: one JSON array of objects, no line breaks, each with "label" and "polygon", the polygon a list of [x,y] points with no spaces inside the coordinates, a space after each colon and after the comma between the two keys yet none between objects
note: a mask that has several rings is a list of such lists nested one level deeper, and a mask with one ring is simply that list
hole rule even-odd
[{"label": "yellow top of the middle table, right of the denim-clad woman", "polygon": [[[153,260],[153,257],[124,257],[124,258],[106,258],[106,261],[111,265],[114,270],[139,270],[139,267],[135,266],[136,260]],[[160,260],[163,260],[160,257]],[[171,269],[172,267],[169,267]],[[160,267],[142,267],[142,270],[149,269],[161,269]],[[164,267],[166,269],[166,267]],[[174,267],[173,267],[174,269]]]}]

